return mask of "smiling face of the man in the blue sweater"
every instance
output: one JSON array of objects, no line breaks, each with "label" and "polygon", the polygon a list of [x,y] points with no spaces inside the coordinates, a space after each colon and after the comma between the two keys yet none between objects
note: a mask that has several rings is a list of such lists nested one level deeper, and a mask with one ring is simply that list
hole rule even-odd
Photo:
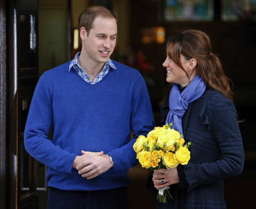
[{"label": "smiling face of the man in the blue sweater", "polygon": [[114,18],[96,17],[89,34],[85,33],[83,48],[86,61],[105,63],[112,54],[117,37],[117,22]]}]

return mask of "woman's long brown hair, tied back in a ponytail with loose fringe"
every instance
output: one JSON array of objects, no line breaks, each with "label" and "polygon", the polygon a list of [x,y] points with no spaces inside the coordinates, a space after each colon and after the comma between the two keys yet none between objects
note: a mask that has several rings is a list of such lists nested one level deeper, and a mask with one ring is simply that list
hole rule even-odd
[{"label": "woman's long brown hair, tied back in a ponytail with loose fringe", "polygon": [[[212,53],[210,37],[198,30],[185,30],[181,35],[170,38],[167,42],[167,55],[184,71],[181,55],[187,60],[197,60],[195,70],[206,85],[224,94],[233,101],[230,79],[224,74],[221,61]],[[189,77],[189,75],[187,74]]]}]

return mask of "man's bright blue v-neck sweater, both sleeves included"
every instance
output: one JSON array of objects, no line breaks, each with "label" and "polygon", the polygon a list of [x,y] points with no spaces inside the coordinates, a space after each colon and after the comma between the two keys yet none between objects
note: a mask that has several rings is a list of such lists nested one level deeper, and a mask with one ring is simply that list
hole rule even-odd
[{"label": "man's bright blue v-neck sweater, both sleeves included", "polygon": [[[78,191],[129,186],[128,168],[138,163],[133,144],[154,128],[145,81],[137,70],[113,61],[117,69],[91,85],[69,71],[69,64],[40,77],[27,117],[25,149],[48,166],[48,186]],[[81,177],[72,168],[81,150],[104,151],[113,169],[93,179]]]}]

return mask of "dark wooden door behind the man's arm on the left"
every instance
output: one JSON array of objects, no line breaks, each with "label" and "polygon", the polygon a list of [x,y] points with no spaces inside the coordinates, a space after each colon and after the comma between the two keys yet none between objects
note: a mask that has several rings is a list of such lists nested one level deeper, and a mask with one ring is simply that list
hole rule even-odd
[{"label": "dark wooden door behind the man's arm on the left", "polygon": [[8,1],[8,208],[36,209],[37,162],[24,149],[24,128],[38,81],[38,1]]}]

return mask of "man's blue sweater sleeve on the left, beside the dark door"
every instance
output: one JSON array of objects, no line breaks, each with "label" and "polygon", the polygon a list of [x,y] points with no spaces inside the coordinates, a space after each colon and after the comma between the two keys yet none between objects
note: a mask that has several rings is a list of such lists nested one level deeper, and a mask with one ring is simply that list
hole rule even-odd
[{"label": "man's blue sweater sleeve on the left, beside the dark door", "polygon": [[77,155],[61,149],[48,138],[52,123],[52,98],[44,73],[38,81],[30,105],[24,132],[25,149],[33,158],[46,166],[60,172],[71,173]]}]

